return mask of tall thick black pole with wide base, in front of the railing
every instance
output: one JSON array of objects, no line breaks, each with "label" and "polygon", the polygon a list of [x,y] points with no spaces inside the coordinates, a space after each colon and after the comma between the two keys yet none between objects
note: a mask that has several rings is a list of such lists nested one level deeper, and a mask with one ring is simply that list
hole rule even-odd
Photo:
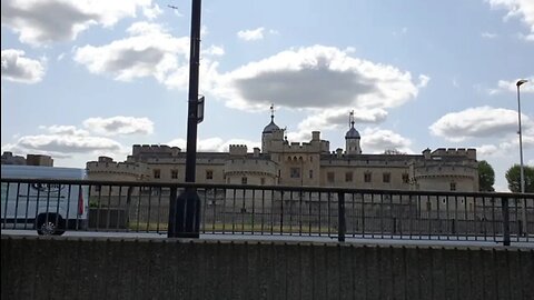
[{"label": "tall thick black pole with wide base, in front of the railing", "polygon": [[[198,123],[198,73],[200,64],[200,8],[201,0],[191,3],[191,37],[189,52],[189,100],[187,110],[186,182],[195,182],[197,160]],[[198,238],[200,224],[200,198],[195,188],[186,190],[176,199],[170,199],[167,236],[169,238]],[[170,217],[172,218],[172,217]]]}]

